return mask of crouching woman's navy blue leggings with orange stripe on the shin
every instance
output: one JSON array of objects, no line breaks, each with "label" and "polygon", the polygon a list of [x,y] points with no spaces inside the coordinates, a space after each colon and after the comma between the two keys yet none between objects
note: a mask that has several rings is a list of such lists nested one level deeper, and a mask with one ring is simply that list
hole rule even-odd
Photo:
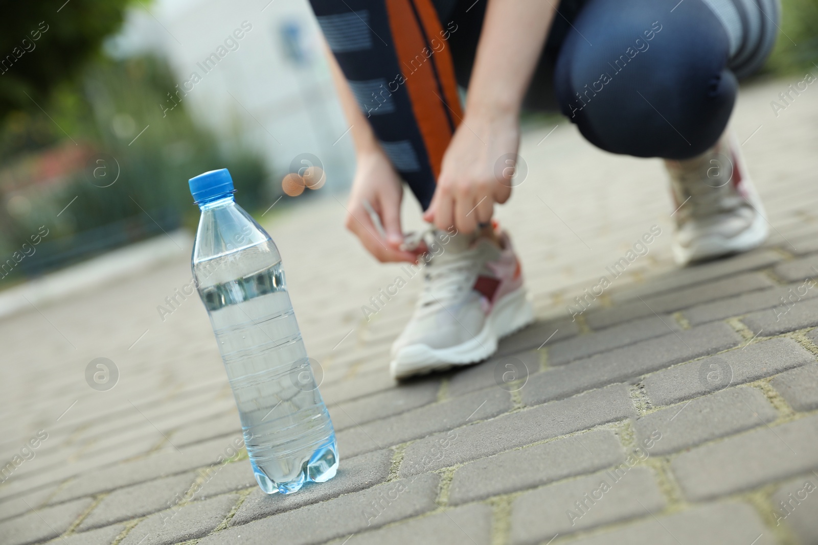
[{"label": "crouching woman's navy blue leggings with orange stripe on the shin", "polygon": [[[487,0],[311,0],[375,136],[423,208],[462,112]],[[559,107],[616,154],[688,159],[726,127],[737,82],[703,0],[564,0],[525,105]],[[456,83],[455,83],[456,82]]]}]

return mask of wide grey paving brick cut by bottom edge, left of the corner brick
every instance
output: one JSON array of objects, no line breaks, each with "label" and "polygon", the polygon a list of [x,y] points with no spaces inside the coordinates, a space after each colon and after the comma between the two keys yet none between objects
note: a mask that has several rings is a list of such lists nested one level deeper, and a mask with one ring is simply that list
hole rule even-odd
[{"label": "wide grey paving brick cut by bottom edge, left of the corner brick", "polygon": [[[643,511],[644,512],[644,511]],[[667,516],[648,516],[631,525],[588,537],[555,541],[571,545],[774,545],[771,532],[746,503],[711,503]]]}]

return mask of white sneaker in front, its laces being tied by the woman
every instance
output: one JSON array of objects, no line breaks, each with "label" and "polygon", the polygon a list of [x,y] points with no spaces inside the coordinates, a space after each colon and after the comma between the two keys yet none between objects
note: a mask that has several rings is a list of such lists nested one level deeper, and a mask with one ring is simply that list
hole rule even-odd
[{"label": "white sneaker in front, its laces being tied by the woman", "polygon": [[498,233],[499,246],[443,231],[434,238],[415,314],[392,345],[394,378],[485,360],[500,338],[534,319],[506,232]]}]

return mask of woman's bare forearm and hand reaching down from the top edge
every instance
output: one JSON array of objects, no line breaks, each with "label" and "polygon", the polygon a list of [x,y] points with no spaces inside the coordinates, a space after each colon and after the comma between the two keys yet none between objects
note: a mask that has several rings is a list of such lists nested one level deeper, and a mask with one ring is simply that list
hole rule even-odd
[{"label": "woman's bare forearm and hand reaching down from the top edge", "polygon": [[488,0],[465,119],[443,155],[438,188],[424,214],[439,229],[454,225],[469,233],[491,219],[494,203],[509,198],[517,116],[555,11],[542,0]]}]

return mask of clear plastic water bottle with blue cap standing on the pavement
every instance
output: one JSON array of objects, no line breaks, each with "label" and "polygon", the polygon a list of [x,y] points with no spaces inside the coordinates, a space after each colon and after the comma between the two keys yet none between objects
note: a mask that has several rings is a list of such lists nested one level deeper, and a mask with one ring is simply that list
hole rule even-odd
[{"label": "clear plastic water bottle with blue cap standing on the pavement", "polygon": [[290,494],[338,469],[335,430],[295,320],[281,255],[233,200],[226,168],[189,181],[201,218],[191,267],[258,485]]}]

